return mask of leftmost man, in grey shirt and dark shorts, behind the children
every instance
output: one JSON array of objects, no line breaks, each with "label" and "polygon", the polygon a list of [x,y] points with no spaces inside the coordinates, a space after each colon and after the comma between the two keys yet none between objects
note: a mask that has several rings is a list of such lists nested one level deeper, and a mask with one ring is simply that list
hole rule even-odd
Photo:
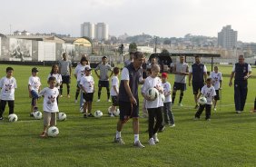
[{"label": "leftmost man, in grey shirt and dark shorts, behind the children", "polygon": [[67,97],[70,98],[70,79],[71,79],[72,63],[66,59],[66,54],[63,54],[63,60],[59,61],[59,73],[62,75],[63,82],[60,85],[60,97],[63,97],[63,84],[66,84]]}]

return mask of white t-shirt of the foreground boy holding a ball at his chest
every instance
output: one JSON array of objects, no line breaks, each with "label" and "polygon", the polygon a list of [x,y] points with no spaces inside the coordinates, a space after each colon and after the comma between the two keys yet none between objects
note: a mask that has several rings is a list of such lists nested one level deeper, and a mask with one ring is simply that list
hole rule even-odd
[{"label": "white t-shirt of the foreground boy holding a ball at his chest", "polygon": [[[146,93],[148,89],[153,87],[162,88],[162,81],[159,77],[153,78],[149,76],[145,79],[145,82],[142,87],[142,93]],[[160,96],[158,96],[154,101],[146,101],[146,104],[145,104],[146,108],[158,108],[162,106],[163,106],[163,103]]]}]

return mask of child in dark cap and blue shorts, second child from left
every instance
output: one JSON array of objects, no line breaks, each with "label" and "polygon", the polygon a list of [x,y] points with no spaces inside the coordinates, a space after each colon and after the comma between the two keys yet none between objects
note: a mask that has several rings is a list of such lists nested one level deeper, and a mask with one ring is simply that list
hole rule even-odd
[{"label": "child in dark cap and blue shorts, second child from left", "polygon": [[33,113],[38,111],[37,101],[39,98],[38,92],[40,91],[41,82],[40,82],[40,78],[37,76],[39,72],[38,69],[34,67],[32,68],[31,72],[32,72],[32,75],[28,79],[28,93],[29,93],[29,97],[32,98],[30,116],[33,117],[34,116]]}]

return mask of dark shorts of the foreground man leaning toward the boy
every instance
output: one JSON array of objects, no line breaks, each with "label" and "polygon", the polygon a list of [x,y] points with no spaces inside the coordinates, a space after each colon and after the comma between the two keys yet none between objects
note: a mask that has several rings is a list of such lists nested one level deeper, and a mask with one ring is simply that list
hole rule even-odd
[{"label": "dark shorts of the foreground man leaning toward the boy", "polygon": [[[124,121],[127,116],[130,116],[131,118],[138,118],[139,117],[139,105],[132,104],[130,102],[120,102],[119,101],[119,110],[120,110],[120,120]],[[133,109],[133,112],[132,112]]]}]

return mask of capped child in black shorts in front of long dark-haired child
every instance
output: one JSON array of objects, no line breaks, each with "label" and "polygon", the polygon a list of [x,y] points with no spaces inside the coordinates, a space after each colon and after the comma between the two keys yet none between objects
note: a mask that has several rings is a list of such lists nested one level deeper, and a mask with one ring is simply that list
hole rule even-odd
[{"label": "capped child in black shorts in front of long dark-haired child", "polygon": [[[94,101],[94,78],[91,75],[91,67],[85,67],[85,75],[81,77],[80,87],[83,91],[84,102],[84,118],[94,117],[92,113],[92,103]],[[87,115],[88,114],[88,115]]]}]

